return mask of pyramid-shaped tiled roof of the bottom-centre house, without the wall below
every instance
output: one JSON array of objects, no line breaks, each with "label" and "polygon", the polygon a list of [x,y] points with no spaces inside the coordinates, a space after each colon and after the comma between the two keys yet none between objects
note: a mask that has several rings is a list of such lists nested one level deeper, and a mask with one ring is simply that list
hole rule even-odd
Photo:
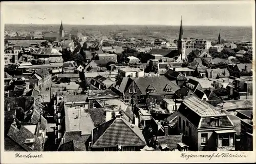
[{"label": "pyramid-shaped tiled roof of the bottom-centre house, without the wall below", "polygon": [[114,118],[93,129],[92,147],[146,145],[137,126],[131,127],[123,118]]}]

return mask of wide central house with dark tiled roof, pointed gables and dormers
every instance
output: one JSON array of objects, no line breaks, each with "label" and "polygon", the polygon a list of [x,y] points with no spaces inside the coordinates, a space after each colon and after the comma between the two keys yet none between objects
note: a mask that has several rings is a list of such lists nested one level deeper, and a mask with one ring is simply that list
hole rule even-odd
[{"label": "wide central house with dark tiled roof, pointed gables and dormers", "polygon": [[160,103],[164,98],[172,98],[179,87],[176,81],[170,81],[164,76],[159,77],[129,77],[118,82],[113,91],[123,95],[124,102],[131,104],[140,103],[146,98],[154,99]]}]

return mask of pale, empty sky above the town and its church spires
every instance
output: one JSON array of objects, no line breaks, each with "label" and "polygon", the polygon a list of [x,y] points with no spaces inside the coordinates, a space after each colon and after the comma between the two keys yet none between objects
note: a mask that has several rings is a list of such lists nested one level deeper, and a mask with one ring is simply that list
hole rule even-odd
[{"label": "pale, empty sky above the town and its church spires", "polygon": [[3,17],[6,24],[60,24],[62,20],[63,24],[179,25],[182,15],[183,25],[251,26],[254,11],[251,2],[78,2],[76,5],[67,2],[5,2]]}]

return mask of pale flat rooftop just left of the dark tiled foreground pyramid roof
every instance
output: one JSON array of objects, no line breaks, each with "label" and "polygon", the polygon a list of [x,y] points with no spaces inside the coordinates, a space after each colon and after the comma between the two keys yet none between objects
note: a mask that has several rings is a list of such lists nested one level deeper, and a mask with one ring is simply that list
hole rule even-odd
[{"label": "pale flat rooftop just left of the dark tiled foreground pyramid roof", "polygon": [[83,107],[74,106],[65,109],[66,132],[81,131],[81,134],[90,134],[94,128],[92,118],[89,113],[84,111]]}]

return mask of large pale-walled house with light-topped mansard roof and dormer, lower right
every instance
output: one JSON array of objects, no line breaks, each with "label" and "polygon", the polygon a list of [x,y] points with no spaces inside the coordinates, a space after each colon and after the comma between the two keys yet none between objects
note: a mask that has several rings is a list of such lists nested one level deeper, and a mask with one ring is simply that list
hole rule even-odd
[{"label": "large pale-walled house with light-topped mansard roof and dormer, lower right", "polygon": [[188,136],[193,151],[234,151],[236,130],[229,117],[197,97],[184,100],[178,110],[178,131]]}]

